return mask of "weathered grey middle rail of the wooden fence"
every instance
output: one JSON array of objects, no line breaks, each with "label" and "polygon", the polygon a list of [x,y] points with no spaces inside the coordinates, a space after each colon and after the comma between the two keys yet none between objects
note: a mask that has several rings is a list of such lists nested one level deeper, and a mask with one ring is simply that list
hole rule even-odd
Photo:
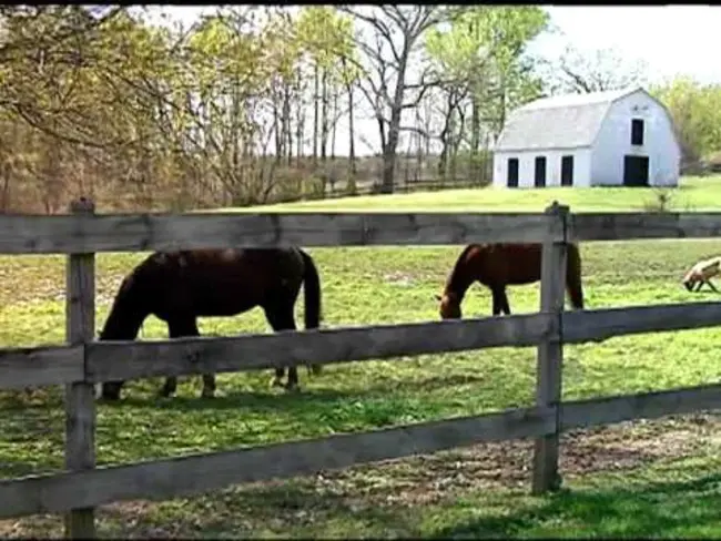
[{"label": "weathered grey middle rail of the wooden fence", "polygon": [[[561,320],[566,344],[717,325],[721,325],[721,303],[715,302],[568,312],[562,314]],[[222,338],[108,340],[84,346],[2,349],[0,389],[250,371],[308,361],[326,365],[495,347],[530,347],[556,334],[555,317],[539,313]]]}]

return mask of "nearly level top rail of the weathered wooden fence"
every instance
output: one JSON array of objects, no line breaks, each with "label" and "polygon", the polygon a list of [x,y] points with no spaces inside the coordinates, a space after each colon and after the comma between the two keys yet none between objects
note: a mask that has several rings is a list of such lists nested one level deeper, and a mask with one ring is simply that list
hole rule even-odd
[{"label": "nearly level top rail of the weathered wooden fence", "polygon": [[717,237],[721,213],[197,213],[1,215],[0,253]]}]

